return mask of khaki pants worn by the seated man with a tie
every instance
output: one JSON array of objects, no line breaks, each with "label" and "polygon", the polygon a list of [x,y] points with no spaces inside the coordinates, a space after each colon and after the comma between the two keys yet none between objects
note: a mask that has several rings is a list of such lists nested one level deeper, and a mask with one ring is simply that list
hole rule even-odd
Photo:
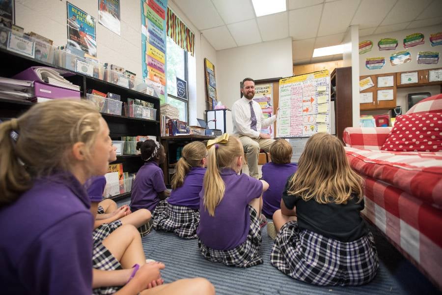
[{"label": "khaki pants worn by the seated man with a tie", "polygon": [[241,143],[243,144],[244,152],[247,156],[247,165],[249,165],[249,174],[256,179],[259,178],[258,173],[258,155],[259,150],[264,149],[269,151],[270,146],[275,142],[274,139],[250,138],[248,136],[241,136]]}]

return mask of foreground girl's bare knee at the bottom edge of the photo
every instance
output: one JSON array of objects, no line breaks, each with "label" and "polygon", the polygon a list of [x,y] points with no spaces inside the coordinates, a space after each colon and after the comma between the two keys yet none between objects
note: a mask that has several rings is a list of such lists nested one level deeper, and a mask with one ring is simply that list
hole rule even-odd
[{"label": "foreground girl's bare knee at the bottom edge of the photo", "polygon": [[170,284],[164,284],[144,290],[141,295],[214,295],[215,287],[206,279],[181,279]]}]

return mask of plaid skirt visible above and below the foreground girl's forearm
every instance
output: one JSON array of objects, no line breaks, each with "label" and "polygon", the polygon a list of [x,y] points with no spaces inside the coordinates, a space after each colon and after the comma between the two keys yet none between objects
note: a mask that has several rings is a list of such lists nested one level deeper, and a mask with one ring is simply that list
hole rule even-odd
[{"label": "plaid skirt visible above and below the foreground girl's forearm", "polygon": [[[101,270],[122,269],[121,264],[118,262],[118,260],[116,260],[115,257],[113,257],[111,252],[103,245],[101,241],[94,244],[94,249],[92,251],[92,266],[93,268]],[[93,294],[114,294],[120,288],[121,286],[95,288],[93,289]]]}]

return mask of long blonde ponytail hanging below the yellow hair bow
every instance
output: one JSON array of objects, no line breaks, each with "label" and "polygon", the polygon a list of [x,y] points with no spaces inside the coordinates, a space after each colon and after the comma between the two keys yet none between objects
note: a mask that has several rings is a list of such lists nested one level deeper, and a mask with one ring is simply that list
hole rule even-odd
[{"label": "long blonde ponytail hanging below the yellow hair bow", "polygon": [[210,216],[215,216],[215,208],[221,203],[225,191],[225,184],[217,165],[216,153],[215,145],[209,148],[207,171],[204,175],[204,207],[209,211]]}]

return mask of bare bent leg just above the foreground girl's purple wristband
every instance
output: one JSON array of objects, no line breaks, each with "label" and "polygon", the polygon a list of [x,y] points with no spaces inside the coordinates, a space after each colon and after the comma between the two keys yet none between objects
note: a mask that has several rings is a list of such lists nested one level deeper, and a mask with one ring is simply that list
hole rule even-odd
[{"label": "bare bent leg just above the foreground girl's purple wristband", "polygon": [[146,263],[141,237],[132,225],[122,225],[103,240],[103,245],[112,253],[123,268]]}]

